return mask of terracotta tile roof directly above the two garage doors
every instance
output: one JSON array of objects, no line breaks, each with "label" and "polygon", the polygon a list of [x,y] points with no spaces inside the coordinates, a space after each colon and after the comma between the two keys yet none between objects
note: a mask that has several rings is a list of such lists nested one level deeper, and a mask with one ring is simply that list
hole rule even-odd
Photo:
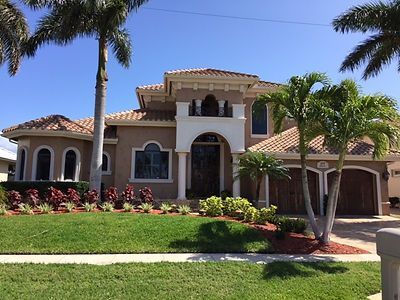
[{"label": "terracotta tile roof directly above the two garage doors", "polygon": [[[323,145],[324,139],[319,136],[310,143],[310,154],[338,154],[335,149]],[[263,151],[270,153],[299,153],[299,132],[297,127],[290,128],[279,135],[268,138],[249,148],[250,151]],[[348,155],[372,155],[374,145],[363,140],[355,141],[349,144]],[[399,155],[400,151],[392,150],[391,155]]]}]

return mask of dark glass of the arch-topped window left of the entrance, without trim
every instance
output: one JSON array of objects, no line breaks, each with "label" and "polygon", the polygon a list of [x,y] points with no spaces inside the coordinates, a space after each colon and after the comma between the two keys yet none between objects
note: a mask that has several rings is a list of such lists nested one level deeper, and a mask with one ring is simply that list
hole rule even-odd
[{"label": "dark glass of the arch-topped window left of the entrance, without trim", "polygon": [[162,151],[156,143],[134,151],[135,179],[169,179],[170,151]]}]

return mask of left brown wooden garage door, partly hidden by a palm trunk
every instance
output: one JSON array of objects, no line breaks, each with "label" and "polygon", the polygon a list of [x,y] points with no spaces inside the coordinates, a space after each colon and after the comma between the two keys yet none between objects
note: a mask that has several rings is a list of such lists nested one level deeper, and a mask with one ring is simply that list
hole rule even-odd
[{"label": "left brown wooden garage door, partly hidden by a palm trunk", "polygon": [[[316,214],[319,214],[318,174],[307,171],[311,203]],[[281,214],[305,214],[303,188],[301,186],[301,169],[290,169],[290,180],[271,180],[269,182],[270,204],[278,207]]]}]

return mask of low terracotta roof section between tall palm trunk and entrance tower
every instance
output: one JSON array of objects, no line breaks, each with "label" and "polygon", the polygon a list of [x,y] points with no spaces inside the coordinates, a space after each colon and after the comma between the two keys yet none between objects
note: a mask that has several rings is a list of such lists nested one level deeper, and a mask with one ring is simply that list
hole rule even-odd
[{"label": "low terracotta roof section between tall palm trunk and entrance tower", "polygon": [[131,120],[131,121],[175,121],[175,111],[132,109],[106,115],[106,121]]}]

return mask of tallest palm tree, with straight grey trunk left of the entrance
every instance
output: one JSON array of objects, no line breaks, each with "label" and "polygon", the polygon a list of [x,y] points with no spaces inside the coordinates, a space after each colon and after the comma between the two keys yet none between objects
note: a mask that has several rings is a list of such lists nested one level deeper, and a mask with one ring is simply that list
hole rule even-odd
[{"label": "tallest palm tree, with straight grey trunk left of the entrance", "polygon": [[104,141],[104,114],[107,88],[108,48],[117,61],[128,68],[132,45],[129,33],[123,28],[128,16],[148,0],[25,0],[34,9],[47,7],[27,46],[32,56],[42,45],[55,43],[65,46],[80,37],[98,41],[98,67],[94,108],[93,151],[90,166],[90,189],[99,191]]}]

